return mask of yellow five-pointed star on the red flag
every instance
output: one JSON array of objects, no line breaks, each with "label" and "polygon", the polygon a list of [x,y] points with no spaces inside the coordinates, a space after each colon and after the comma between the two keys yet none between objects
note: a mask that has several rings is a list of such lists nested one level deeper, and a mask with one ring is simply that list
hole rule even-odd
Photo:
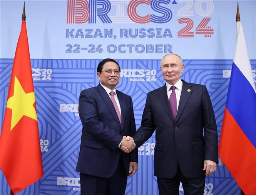
[{"label": "yellow five-pointed star on the red flag", "polygon": [[15,76],[13,96],[7,100],[6,107],[12,109],[11,129],[20,121],[23,116],[30,117],[37,121],[37,112],[33,104],[35,103],[35,93],[25,93],[20,81]]}]

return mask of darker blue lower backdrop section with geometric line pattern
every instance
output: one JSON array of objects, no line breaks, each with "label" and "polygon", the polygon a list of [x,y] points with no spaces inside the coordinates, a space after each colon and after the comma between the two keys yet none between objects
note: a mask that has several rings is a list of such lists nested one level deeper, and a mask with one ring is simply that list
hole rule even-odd
[{"label": "darker blue lower backdrop section with geometric line pattern", "polygon": [[[74,186],[70,186],[72,182],[57,185],[57,177],[79,178],[75,166],[82,125],[77,104],[80,91],[97,86],[99,83],[96,75],[99,61],[100,59],[31,59],[40,139],[49,143],[45,141],[48,143],[48,151],[42,151],[44,176],[20,194],[80,194],[79,191],[73,190]],[[117,89],[131,95],[136,128],[138,128],[141,125],[147,93],[165,83],[160,70],[160,60],[119,59],[117,61],[122,69]],[[218,126],[218,137],[229,84],[229,78],[223,76],[223,70],[230,70],[232,61],[184,60],[182,79],[204,84],[209,91]],[[1,129],[12,64],[13,59],[0,59]],[[255,71],[256,60],[251,60],[251,65]],[[149,145],[153,147],[154,142],[153,135],[142,145],[140,151],[148,152],[146,148]],[[157,181],[152,176],[153,167],[153,155],[139,155],[139,170],[136,175],[128,178],[125,194],[157,195]],[[10,188],[2,172],[0,172],[0,181],[0,185],[3,186],[0,194],[8,194]],[[216,172],[206,178],[206,183],[213,185],[211,191],[213,194],[239,194],[238,185],[225,167],[218,166]],[[207,188],[207,193],[210,193],[209,189]],[[181,191],[180,194],[183,192]]]}]

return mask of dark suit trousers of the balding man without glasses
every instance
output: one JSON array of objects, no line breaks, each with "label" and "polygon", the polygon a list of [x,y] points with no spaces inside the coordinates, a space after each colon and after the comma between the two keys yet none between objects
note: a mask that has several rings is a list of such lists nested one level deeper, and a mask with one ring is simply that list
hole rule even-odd
[{"label": "dark suit trousers of the balding man without glasses", "polygon": [[157,177],[159,195],[179,195],[180,182],[182,183],[184,195],[204,194],[205,176],[187,178],[182,174],[178,164],[176,175],[173,178]]}]

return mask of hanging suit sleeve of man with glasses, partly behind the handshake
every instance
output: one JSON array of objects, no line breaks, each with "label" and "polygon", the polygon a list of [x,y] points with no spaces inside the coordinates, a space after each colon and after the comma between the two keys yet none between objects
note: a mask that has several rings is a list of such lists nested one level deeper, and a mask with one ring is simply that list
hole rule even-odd
[{"label": "hanging suit sleeve of man with glasses, partly behind the handshake", "polygon": [[[130,132],[129,136],[133,137],[136,133],[136,123],[134,118],[134,111],[133,111],[133,105],[132,105],[132,98],[131,99],[131,122],[130,122]],[[130,162],[137,162],[138,163],[138,147],[136,147],[132,152],[129,153],[129,161]]]}]

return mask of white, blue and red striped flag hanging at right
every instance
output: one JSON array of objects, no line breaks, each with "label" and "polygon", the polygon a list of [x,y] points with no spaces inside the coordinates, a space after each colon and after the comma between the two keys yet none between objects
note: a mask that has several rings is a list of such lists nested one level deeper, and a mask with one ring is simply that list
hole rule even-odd
[{"label": "white, blue and red striped flag hanging at right", "polygon": [[256,90],[243,26],[236,22],[236,50],[224,111],[219,157],[245,194],[256,194]]}]

